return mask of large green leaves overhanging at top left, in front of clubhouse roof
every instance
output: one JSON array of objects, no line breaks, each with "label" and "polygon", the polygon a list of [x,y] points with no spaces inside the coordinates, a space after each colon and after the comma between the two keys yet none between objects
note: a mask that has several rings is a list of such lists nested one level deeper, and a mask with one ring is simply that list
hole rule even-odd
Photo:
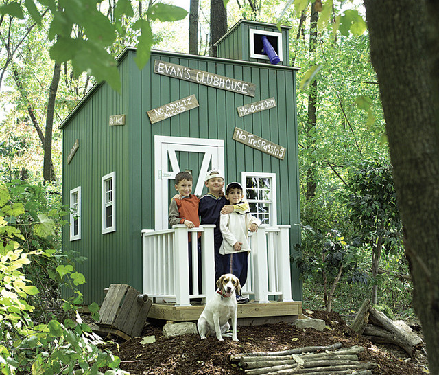
[{"label": "large green leaves overhanging at top left, in front of clubhouse roof", "polygon": [[[119,0],[115,8],[115,19],[108,19],[99,9],[100,1],[76,0],[27,0],[24,4],[18,2],[6,3],[0,6],[0,14],[25,19],[25,12],[36,23],[41,23],[42,13],[49,12],[51,16],[49,40],[54,42],[50,47],[50,56],[57,62],[71,61],[73,73],[79,76],[87,71],[95,76],[98,82],[105,80],[110,86],[120,91],[121,81],[117,65],[108,47],[123,34],[124,17],[132,17],[134,10],[131,1]],[[174,5],[156,3],[146,12],[146,19],[139,20],[136,28],[141,30],[139,37],[139,67],[147,62],[152,45],[150,19],[174,21],[183,19],[187,11]],[[78,33],[80,30],[80,33]],[[76,36],[74,36],[76,35]]]}]

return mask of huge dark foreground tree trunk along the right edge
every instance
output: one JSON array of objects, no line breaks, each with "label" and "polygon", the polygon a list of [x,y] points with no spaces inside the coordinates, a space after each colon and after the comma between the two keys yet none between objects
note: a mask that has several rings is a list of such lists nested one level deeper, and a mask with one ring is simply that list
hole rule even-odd
[{"label": "huge dark foreground tree trunk along the right edge", "polygon": [[439,8],[364,0],[394,168],[405,254],[431,374],[439,374]]}]

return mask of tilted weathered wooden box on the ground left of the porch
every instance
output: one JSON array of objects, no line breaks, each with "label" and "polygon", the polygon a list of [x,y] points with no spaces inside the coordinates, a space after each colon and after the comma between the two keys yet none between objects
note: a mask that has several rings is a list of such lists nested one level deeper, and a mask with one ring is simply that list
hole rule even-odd
[{"label": "tilted weathered wooden box on the ground left of the porch", "polygon": [[[99,311],[97,325],[123,339],[140,336],[152,301],[132,286],[111,284]],[[124,335],[118,332],[123,332]]]}]

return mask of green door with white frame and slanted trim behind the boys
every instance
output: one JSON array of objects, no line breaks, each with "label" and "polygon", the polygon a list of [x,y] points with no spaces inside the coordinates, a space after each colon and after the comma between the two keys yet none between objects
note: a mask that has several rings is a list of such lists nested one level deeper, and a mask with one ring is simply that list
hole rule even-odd
[{"label": "green door with white frame and slanted trim behind the boys", "polygon": [[177,194],[174,179],[181,171],[193,175],[192,194],[201,195],[206,172],[216,168],[224,173],[224,141],[187,137],[154,137],[155,229],[167,229],[171,197]]}]

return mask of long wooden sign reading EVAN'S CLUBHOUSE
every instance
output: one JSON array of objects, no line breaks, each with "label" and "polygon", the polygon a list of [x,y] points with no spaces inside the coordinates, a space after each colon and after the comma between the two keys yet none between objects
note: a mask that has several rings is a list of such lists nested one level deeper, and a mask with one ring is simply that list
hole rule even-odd
[{"label": "long wooden sign reading EVAN'S CLUBHOUSE", "polygon": [[218,76],[217,74],[209,73],[209,71],[192,69],[161,60],[155,60],[154,73],[178,78],[179,80],[204,84],[209,87],[215,87],[215,89],[233,91],[234,93],[240,93],[242,95],[254,96],[254,91],[256,91],[256,86],[250,82]]}]

